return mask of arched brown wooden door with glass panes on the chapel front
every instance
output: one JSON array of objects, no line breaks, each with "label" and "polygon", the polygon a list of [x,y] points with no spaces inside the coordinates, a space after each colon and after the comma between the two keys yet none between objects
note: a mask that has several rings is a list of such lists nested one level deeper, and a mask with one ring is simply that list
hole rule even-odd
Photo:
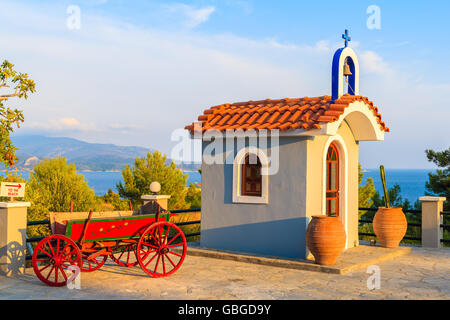
[{"label": "arched brown wooden door with glass panes on the chapel front", "polygon": [[326,214],[339,217],[339,151],[335,143],[331,143],[326,159]]}]

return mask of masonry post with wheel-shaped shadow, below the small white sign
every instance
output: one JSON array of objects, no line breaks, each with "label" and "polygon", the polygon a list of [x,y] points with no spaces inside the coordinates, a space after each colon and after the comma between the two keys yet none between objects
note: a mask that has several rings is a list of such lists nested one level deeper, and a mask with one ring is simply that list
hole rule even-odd
[{"label": "masonry post with wheel-shaped shadow, below the small white sign", "polygon": [[29,202],[0,202],[0,274],[25,273]]}]

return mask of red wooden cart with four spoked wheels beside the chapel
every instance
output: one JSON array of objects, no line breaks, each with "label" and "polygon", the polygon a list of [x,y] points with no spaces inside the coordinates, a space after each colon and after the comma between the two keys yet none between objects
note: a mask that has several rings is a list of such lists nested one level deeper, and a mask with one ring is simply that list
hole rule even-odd
[{"label": "red wooden cart with four spoked wheels beside the chapel", "polygon": [[169,222],[171,213],[69,220],[65,234],[53,233],[33,251],[37,277],[50,286],[65,286],[73,275],[70,265],[83,272],[98,270],[110,257],[123,267],[140,265],[152,277],[177,271],[186,256],[183,231]]}]

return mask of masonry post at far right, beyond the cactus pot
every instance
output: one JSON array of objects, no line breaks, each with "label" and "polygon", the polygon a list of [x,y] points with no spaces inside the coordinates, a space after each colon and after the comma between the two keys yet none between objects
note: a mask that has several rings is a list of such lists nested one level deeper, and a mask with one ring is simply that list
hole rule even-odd
[{"label": "masonry post at far right, beyond the cactus pot", "polygon": [[422,247],[441,248],[445,197],[421,197],[422,201]]}]

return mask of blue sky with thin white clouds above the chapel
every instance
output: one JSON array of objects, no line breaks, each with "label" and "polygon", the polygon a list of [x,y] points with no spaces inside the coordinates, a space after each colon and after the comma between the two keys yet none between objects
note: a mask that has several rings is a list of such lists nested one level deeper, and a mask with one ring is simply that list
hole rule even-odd
[{"label": "blue sky with thin white clouds above the chapel", "polygon": [[[81,28],[67,27],[80,8]],[[367,8],[380,9],[369,29]],[[449,1],[0,1],[0,59],[37,82],[17,134],[141,145],[170,155],[174,130],[211,105],[330,94],[349,29],[360,93],[391,128],[363,167],[430,168],[450,145]]]}]

